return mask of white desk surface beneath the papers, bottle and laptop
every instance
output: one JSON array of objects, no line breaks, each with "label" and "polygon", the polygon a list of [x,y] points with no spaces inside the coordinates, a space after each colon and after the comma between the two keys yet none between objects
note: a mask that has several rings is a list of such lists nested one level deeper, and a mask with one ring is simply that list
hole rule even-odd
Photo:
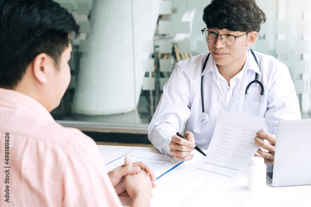
[{"label": "white desk surface beneath the papers, bottle and laptop", "polygon": [[[98,146],[106,163],[109,163],[122,155],[139,149],[149,152],[157,152],[149,147],[127,146]],[[181,173],[181,170],[199,160],[202,155],[194,151],[195,158],[184,162],[174,170],[165,174],[156,181],[157,187],[152,189],[154,195],[151,198],[153,207],[240,207],[240,206],[282,206],[282,207],[310,207],[311,185],[292,187],[272,187],[267,183],[262,192],[247,190],[247,172],[245,171],[238,180],[226,187],[218,187],[213,183],[208,184],[193,177]],[[299,176],[299,175],[297,175]],[[123,206],[130,205],[130,198],[119,196]]]}]

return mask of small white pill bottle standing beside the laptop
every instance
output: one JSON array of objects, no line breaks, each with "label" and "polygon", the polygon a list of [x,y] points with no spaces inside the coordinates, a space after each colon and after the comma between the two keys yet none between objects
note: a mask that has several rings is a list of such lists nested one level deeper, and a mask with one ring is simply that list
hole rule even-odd
[{"label": "small white pill bottle standing beside the laptop", "polygon": [[266,187],[267,166],[263,157],[252,157],[248,164],[247,189],[261,191]]}]

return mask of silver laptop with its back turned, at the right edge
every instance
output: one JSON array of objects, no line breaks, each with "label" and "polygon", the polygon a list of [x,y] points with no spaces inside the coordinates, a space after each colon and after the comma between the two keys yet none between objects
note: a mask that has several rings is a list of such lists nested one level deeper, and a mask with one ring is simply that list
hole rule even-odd
[{"label": "silver laptop with its back turned, at the right edge", "polygon": [[267,182],[274,187],[311,184],[311,119],[278,122],[273,171],[268,170]]}]

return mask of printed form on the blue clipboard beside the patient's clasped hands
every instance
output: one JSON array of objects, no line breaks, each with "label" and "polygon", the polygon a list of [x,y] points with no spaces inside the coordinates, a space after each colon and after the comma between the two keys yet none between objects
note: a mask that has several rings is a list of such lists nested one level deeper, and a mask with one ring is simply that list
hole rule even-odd
[{"label": "printed form on the blue clipboard beside the patient's clasped hands", "polygon": [[162,155],[160,153],[146,152],[146,151],[131,151],[126,155],[106,164],[107,172],[121,166],[124,164],[124,158],[129,156],[132,162],[144,162],[151,170],[155,173],[156,178],[158,178],[163,173],[169,171],[174,166],[180,163],[180,161],[174,160],[173,157],[169,155]]}]

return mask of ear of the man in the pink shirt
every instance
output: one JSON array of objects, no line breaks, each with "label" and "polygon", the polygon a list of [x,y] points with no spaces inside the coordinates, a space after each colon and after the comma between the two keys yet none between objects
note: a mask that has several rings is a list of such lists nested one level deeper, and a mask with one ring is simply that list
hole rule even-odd
[{"label": "ear of the man in the pink shirt", "polygon": [[45,53],[40,53],[32,61],[32,71],[39,83],[46,83],[49,68],[49,58]]}]

